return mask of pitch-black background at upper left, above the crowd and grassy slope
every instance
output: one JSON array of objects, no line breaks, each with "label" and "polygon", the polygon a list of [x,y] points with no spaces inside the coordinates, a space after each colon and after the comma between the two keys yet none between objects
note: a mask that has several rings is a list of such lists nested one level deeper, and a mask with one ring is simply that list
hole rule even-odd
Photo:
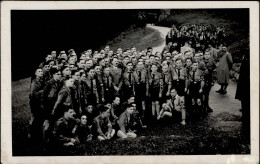
[{"label": "pitch-black background at upper left, above the crowd and grassy slope", "polygon": [[[141,10],[12,10],[12,80],[31,76],[52,50],[98,50],[121,31],[144,26]],[[149,12],[150,10],[146,10]]]}]

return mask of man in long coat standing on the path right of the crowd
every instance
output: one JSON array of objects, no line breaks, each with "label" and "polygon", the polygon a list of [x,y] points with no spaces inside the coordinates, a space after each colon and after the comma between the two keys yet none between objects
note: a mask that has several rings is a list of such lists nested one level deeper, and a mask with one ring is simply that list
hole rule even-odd
[{"label": "man in long coat standing on the path right of the crowd", "polygon": [[222,47],[222,50],[218,53],[218,58],[219,65],[217,69],[217,82],[221,88],[216,92],[226,94],[229,83],[229,70],[232,66],[233,60],[226,47]]}]

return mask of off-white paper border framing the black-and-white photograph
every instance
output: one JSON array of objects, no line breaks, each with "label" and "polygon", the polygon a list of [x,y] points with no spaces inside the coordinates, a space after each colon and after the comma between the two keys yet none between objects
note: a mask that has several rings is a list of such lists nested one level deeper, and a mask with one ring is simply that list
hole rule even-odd
[{"label": "off-white paper border framing the black-and-white photograph", "polygon": [[[12,156],[11,10],[250,8],[251,154],[160,156]],[[22,55],[22,54],[21,54]],[[4,1],[1,2],[1,162],[2,163],[258,163],[259,162],[259,2],[245,1]]]}]

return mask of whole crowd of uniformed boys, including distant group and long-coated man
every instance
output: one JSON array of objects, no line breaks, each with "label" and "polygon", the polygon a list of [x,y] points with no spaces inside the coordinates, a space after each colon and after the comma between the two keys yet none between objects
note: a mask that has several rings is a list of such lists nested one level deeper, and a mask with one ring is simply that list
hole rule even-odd
[{"label": "whole crowd of uniformed boys, including distant group and long-coated man", "polygon": [[29,137],[70,146],[135,138],[147,123],[185,126],[187,116],[213,112],[215,80],[227,93],[232,57],[224,44],[224,28],[173,25],[162,52],[50,51],[31,81]]}]

